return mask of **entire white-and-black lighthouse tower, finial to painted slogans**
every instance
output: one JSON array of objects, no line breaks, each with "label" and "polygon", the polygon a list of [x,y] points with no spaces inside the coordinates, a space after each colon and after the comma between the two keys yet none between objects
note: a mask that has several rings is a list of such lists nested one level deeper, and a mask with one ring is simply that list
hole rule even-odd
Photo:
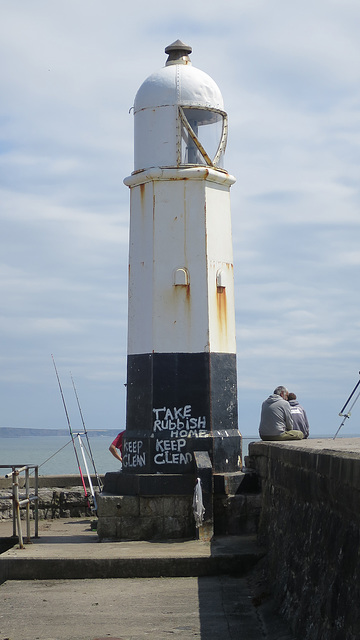
[{"label": "entire white-and-black lighthouse tower, finial to painted slogans", "polygon": [[227,115],[191,47],[134,102],[130,188],[125,474],[215,473],[241,466]]}]

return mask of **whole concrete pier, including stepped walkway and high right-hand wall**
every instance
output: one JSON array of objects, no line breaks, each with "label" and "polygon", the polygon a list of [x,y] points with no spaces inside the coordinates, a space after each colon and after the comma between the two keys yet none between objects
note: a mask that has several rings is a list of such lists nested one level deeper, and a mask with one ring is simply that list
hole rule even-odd
[{"label": "whole concrete pier, including stepped walkway and high right-hand wall", "polygon": [[[257,534],[99,543],[89,519],[41,521],[38,540],[0,555],[3,636],[357,640],[360,439],[254,442],[247,464]],[[236,500],[226,508],[235,520]]]}]

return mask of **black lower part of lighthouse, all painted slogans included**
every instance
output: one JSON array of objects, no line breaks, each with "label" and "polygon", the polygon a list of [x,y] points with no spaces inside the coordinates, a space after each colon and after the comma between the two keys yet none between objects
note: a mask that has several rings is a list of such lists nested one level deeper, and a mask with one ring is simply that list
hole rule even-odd
[{"label": "black lower part of lighthouse, all painted slogans included", "polygon": [[195,451],[216,472],[241,469],[235,354],[129,355],[126,413],[127,473],[194,473]]}]

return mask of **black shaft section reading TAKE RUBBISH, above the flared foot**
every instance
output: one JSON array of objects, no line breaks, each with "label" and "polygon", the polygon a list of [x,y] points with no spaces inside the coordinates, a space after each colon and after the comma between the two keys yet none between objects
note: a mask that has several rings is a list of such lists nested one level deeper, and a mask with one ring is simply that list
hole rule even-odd
[{"label": "black shaft section reading TAKE RUBBISH, above the flared foot", "polygon": [[[128,355],[126,429],[152,433],[166,430],[172,421],[172,427],[181,430],[187,428],[187,417],[200,418],[207,431],[237,428],[236,355]],[[189,426],[197,428],[195,422]]]}]

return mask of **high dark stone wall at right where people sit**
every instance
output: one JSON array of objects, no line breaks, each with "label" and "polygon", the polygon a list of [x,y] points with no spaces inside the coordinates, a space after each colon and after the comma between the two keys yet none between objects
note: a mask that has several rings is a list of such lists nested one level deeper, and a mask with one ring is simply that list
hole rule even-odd
[{"label": "high dark stone wall at right where people sit", "polygon": [[360,443],[354,448],[249,446],[246,464],[261,477],[258,536],[270,587],[302,640],[360,638]]}]

